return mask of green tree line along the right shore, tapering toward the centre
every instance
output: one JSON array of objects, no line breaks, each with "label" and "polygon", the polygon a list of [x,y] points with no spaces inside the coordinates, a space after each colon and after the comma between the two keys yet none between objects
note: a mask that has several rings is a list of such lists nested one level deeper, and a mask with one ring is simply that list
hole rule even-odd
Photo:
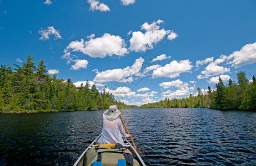
[{"label": "green tree line along the right shore, tapering toward the centre", "polygon": [[256,80],[252,76],[252,82],[249,82],[245,71],[237,73],[237,80],[229,79],[228,85],[224,85],[219,77],[215,90],[208,86],[207,93],[202,93],[198,87],[198,95],[185,98],[165,98],[159,102],[147,103],[141,108],[214,108],[225,110],[255,110],[256,109]]}]

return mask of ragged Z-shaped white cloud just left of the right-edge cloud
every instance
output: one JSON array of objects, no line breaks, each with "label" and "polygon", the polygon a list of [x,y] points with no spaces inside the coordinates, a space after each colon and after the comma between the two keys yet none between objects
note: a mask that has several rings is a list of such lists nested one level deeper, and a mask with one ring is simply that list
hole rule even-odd
[{"label": "ragged Z-shaped white cloud just left of the right-edge cloud", "polygon": [[227,60],[228,56],[222,55],[219,59],[213,61],[213,58],[205,59],[204,61],[201,61],[200,63],[197,63],[197,65],[206,64],[210,61],[212,61],[206,68],[201,72],[200,75],[197,76],[198,79],[207,79],[210,76],[224,74],[225,72],[229,72],[229,68],[224,68],[223,66],[218,66],[218,64],[223,63],[225,60]]}]

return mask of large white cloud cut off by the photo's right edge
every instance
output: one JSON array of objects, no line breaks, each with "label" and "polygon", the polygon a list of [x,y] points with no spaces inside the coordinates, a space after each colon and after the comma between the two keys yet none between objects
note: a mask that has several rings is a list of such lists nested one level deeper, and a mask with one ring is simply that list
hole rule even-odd
[{"label": "large white cloud cut off by the photo's right edge", "polygon": [[240,51],[234,51],[228,56],[228,64],[232,64],[234,68],[243,65],[253,64],[256,61],[256,42],[244,45]]}]

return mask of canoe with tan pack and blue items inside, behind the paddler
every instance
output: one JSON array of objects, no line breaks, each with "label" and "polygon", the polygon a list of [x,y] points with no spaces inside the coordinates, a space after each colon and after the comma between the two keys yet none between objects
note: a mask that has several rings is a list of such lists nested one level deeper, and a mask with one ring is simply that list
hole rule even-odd
[{"label": "canoe with tan pack and blue items inside, behind the paddler", "polygon": [[101,134],[86,148],[73,166],[145,165],[139,153],[126,138],[122,146],[121,144],[97,144],[100,137]]}]

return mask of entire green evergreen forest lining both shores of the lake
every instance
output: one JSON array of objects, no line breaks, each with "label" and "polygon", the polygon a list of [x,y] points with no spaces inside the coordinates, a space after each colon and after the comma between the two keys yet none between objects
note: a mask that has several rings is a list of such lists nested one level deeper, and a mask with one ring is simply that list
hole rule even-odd
[{"label": "entire green evergreen forest lining both shores of the lake", "polygon": [[252,82],[244,71],[237,74],[238,82],[229,80],[224,85],[219,77],[216,90],[208,86],[207,94],[198,87],[198,96],[186,98],[165,98],[159,102],[147,103],[140,107],[126,105],[117,101],[112,94],[104,90],[99,92],[95,85],[76,87],[71,79],[57,79],[47,73],[44,61],[34,63],[34,57],[27,56],[22,66],[1,65],[0,68],[0,112],[50,112],[50,111],[87,111],[105,110],[111,105],[122,108],[216,108],[228,110],[256,109],[256,80]]}]

